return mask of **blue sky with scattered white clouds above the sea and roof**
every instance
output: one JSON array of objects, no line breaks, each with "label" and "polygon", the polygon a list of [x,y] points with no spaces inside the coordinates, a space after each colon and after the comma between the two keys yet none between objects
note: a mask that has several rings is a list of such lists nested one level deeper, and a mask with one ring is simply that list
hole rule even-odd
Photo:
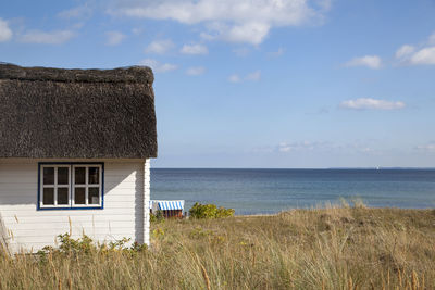
[{"label": "blue sky with scattered white clouds above the sea and roof", "polygon": [[435,1],[2,1],[0,61],[150,65],[156,167],[435,167]]}]

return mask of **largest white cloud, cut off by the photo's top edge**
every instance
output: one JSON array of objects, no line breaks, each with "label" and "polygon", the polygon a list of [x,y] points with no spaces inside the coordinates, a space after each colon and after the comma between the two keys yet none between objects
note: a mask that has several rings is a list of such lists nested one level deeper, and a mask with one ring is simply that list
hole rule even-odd
[{"label": "largest white cloud, cut off by the photo's top edge", "polygon": [[204,24],[201,37],[259,45],[273,27],[321,23],[330,7],[330,0],[117,0],[110,13]]}]

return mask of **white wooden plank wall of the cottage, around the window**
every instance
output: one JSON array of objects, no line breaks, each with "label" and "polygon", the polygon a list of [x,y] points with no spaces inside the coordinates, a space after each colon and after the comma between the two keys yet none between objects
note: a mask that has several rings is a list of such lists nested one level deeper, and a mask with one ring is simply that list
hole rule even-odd
[{"label": "white wooden plank wall of the cottage, around the window", "polygon": [[50,162],[0,159],[0,218],[8,230],[11,251],[35,252],[45,245],[55,247],[57,236],[70,230],[73,238],[86,234],[99,242],[125,237],[132,242],[149,243],[149,210],[145,211],[150,199],[149,160],[91,160],[104,163],[103,210],[37,211],[40,161]]}]

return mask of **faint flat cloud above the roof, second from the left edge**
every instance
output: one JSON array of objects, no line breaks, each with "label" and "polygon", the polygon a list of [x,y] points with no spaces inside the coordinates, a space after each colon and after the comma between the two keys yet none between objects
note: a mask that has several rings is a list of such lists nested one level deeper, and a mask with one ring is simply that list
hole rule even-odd
[{"label": "faint flat cloud above the roof, second from the left edge", "polygon": [[20,37],[21,42],[40,45],[61,45],[75,36],[73,30],[41,31],[30,30]]}]

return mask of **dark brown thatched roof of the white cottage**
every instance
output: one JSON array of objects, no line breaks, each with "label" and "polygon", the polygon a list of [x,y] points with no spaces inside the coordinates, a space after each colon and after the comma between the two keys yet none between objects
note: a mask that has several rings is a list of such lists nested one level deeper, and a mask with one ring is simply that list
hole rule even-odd
[{"label": "dark brown thatched roof of the white cottage", "polygon": [[152,81],[152,71],[142,66],[0,63],[0,157],[156,157]]}]

